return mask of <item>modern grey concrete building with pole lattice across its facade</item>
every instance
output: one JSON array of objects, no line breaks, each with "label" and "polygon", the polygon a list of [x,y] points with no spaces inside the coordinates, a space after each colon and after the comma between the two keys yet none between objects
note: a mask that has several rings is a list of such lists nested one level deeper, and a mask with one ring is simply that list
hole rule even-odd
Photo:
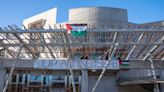
[{"label": "modern grey concrete building with pole lattice across its facade", "polygon": [[56,23],[54,8],[0,28],[0,92],[164,92],[164,21],[127,15],[74,8]]}]

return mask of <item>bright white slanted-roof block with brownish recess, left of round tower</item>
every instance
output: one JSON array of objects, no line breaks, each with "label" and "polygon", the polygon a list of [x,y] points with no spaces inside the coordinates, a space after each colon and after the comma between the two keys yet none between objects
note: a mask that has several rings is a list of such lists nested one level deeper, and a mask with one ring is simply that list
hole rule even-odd
[{"label": "bright white slanted-roof block with brownish recess, left of round tower", "polygon": [[[46,12],[37,14],[23,21],[23,25],[27,29],[41,28],[49,29],[56,24],[57,8],[50,9]],[[42,26],[44,25],[44,26]]]}]

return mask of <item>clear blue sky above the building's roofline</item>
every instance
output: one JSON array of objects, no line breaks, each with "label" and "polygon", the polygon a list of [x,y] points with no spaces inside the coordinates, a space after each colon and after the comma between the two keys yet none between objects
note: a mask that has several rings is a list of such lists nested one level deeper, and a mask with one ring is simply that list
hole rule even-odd
[{"label": "clear blue sky above the building's roofline", "polygon": [[128,20],[145,23],[164,20],[164,0],[0,0],[0,27],[17,24],[25,18],[58,8],[57,22],[66,21],[69,8],[107,6],[128,10]]}]

